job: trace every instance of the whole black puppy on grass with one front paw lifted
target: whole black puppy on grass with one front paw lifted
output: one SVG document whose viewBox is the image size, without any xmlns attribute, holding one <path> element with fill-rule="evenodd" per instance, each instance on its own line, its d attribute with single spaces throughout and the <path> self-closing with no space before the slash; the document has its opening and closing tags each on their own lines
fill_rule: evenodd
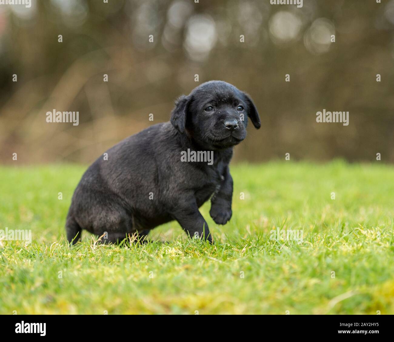
<svg viewBox="0 0 394 342">
<path fill-rule="evenodd" d="M 213 194 L 211 217 L 217 224 L 230 220 L 229 162 L 232 147 L 246 137 L 248 116 L 260 128 L 249 96 L 223 81 L 181 96 L 170 122 L 126 138 L 87 169 L 72 197 L 67 240 L 78 241 L 82 229 L 108 233 L 105 242 L 120 242 L 136 231 L 143 239 L 150 229 L 177 220 L 189 236 L 212 242 L 199 207 Z M 185 162 L 193 151 L 213 155 L 213 161 Z"/>
</svg>

